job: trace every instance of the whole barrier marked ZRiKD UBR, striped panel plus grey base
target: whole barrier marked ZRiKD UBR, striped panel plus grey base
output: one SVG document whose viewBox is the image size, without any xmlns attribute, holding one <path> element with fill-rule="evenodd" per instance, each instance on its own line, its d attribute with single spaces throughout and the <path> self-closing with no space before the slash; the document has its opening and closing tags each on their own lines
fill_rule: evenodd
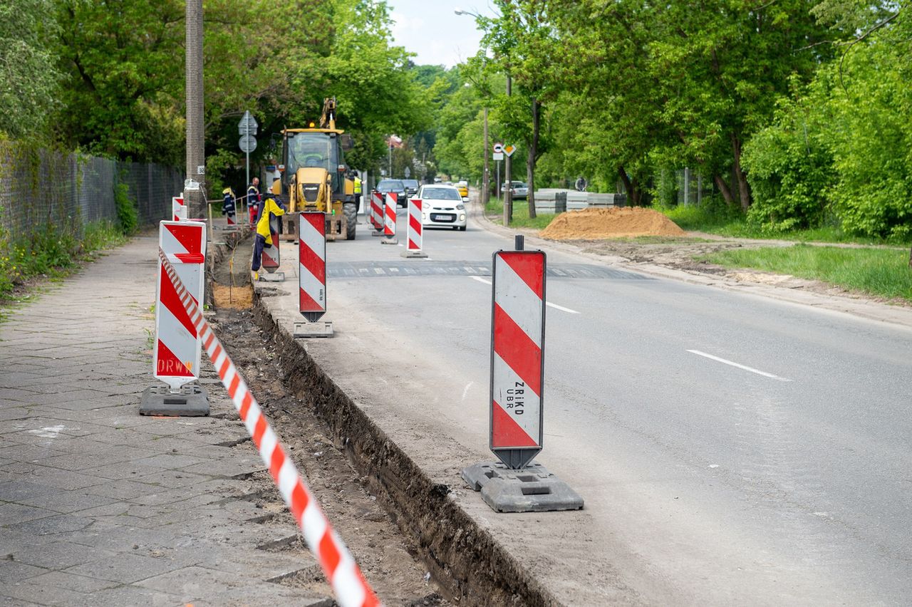
<svg viewBox="0 0 912 607">
<path fill-rule="evenodd" d="M 464 468 L 462 478 L 498 512 L 582 509 L 583 499 L 532 460 L 544 437 L 544 310 L 547 261 L 542 251 L 493 254 L 491 431 L 500 461 Z"/>
</svg>

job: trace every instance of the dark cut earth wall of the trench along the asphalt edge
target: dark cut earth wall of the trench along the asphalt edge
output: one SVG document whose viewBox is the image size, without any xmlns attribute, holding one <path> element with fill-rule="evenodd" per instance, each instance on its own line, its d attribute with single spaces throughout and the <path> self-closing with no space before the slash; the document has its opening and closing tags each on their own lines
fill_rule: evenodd
<svg viewBox="0 0 912 607">
<path fill-rule="evenodd" d="M 431 575 L 461 605 L 559 605 L 489 530 L 454 501 L 352 400 L 288 330 L 271 289 L 254 284 L 254 319 L 287 354 L 280 359 L 296 396 L 312 403 L 356 468 L 414 542 Z M 357 555 L 356 555 L 357 558 Z"/>
</svg>

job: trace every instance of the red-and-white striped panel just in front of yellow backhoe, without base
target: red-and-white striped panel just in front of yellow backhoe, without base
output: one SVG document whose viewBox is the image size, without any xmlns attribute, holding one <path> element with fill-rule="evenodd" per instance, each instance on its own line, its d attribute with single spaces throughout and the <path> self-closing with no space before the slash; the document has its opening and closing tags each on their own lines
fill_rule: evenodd
<svg viewBox="0 0 912 607">
<path fill-rule="evenodd" d="M 326 314 L 326 213 L 303 211 L 297 234 L 301 315 L 316 323 Z"/>
</svg>

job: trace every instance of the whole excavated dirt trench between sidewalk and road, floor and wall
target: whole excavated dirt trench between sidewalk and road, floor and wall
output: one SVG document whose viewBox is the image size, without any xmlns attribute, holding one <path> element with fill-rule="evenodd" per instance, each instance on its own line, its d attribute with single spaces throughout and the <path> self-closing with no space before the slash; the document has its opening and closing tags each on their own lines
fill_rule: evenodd
<svg viewBox="0 0 912 607">
<path fill-rule="evenodd" d="M 275 324 L 256 295 L 252 309 L 244 306 L 244 293 L 252 293 L 248 245 L 237 247 L 233 272 L 231 251 L 224 249 L 212 255 L 215 330 L 381 600 L 557 604 L 453 503 L 450 487 L 428 478 Z M 271 496 L 273 516 L 291 520 L 271 478 L 252 480 Z M 275 550 L 304 552 L 306 546 L 295 539 Z M 318 569 L 277 582 L 328 590 Z"/>
</svg>

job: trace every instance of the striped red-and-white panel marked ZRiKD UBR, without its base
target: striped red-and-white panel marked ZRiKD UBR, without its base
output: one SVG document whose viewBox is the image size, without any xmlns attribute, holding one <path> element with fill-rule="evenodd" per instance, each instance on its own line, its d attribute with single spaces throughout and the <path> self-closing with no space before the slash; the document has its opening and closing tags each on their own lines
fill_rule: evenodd
<svg viewBox="0 0 912 607">
<path fill-rule="evenodd" d="M 544 271 L 544 252 L 494 253 L 490 446 L 511 468 L 542 450 Z"/>
</svg>

